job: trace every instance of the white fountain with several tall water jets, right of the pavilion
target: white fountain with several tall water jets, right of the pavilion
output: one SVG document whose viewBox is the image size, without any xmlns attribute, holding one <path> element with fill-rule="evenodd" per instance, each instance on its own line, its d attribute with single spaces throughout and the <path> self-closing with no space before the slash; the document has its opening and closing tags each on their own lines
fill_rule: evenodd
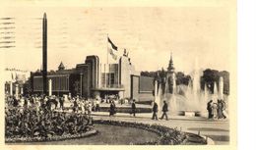
<svg viewBox="0 0 256 150">
<path fill-rule="evenodd" d="M 164 81 L 162 82 L 160 79 L 155 81 L 155 101 L 159 105 L 160 110 L 163 101 L 166 101 L 170 115 L 207 117 L 206 107 L 210 98 L 213 99 L 214 103 L 217 103 L 218 99 L 224 99 L 224 78 L 222 76 L 219 79 L 219 90 L 217 82 L 214 82 L 213 93 L 210 92 L 207 84 L 204 85 L 204 89 L 201 89 L 197 59 L 195 60 L 195 67 L 191 76 L 192 79 L 188 85 L 176 85 L 172 56 L 170 57 Z M 158 78 L 160 78 L 159 74 Z M 164 90 L 162 90 L 162 87 L 164 87 Z"/>
</svg>

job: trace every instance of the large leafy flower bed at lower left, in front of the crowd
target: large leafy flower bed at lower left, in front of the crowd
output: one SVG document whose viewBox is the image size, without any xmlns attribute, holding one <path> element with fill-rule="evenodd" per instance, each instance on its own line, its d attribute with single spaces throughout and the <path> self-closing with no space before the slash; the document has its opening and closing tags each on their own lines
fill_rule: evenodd
<svg viewBox="0 0 256 150">
<path fill-rule="evenodd" d="M 5 110 L 5 142 L 40 142 L 95 135 L 93 118 L 33 108 Z"/>
</svg>

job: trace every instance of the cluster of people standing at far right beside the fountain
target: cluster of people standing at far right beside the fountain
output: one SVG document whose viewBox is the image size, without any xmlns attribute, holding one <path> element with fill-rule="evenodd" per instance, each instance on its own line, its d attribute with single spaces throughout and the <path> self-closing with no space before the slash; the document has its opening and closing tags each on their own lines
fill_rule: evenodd
<svg viewBox="0 0 256 150">
<path fill-rule="evenodd" d="M 224 100 L 218 99 L 217 103 L 213 100 L 210 100 L 207 103 L 207 111 L 208 111 L 208 119 L 225 119 L 226 112 L 225 112 L 225 103 Z"/>
</svg>

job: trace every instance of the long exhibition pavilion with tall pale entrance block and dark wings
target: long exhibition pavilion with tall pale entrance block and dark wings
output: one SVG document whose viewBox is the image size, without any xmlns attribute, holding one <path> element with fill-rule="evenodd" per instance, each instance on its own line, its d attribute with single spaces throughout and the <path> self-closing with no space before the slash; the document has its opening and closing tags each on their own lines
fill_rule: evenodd
<svg viewBox="0 0 256 150">
<path fill-rule="evenodd" d="M 71 70 L 65 69 L 61 62 L 57 71 L 47 73 L 47 80 L 52 80 L 52 93 L 86 98 L 114 95 L 140 101 L 154 100 L 154 77 L 141 76 L 127 56 L 122 56 L 117 64 L 99 62 L 97 56 L 88 56 L 85 63 Z M 33 93 L 42 93 L 41 72 L 31 74 L 31 84 Z"/>
</svg>

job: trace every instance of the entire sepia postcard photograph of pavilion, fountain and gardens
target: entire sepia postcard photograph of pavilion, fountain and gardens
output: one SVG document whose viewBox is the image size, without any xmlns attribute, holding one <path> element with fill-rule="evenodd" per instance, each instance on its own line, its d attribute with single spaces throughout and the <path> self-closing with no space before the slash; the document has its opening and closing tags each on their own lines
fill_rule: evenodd
<svg viewBox="0 0 256 150">
<path fill-rule="evenodd" d="M 4 145 L 230 145 L 226 5 L 4 7 Z"/>
</svg>

